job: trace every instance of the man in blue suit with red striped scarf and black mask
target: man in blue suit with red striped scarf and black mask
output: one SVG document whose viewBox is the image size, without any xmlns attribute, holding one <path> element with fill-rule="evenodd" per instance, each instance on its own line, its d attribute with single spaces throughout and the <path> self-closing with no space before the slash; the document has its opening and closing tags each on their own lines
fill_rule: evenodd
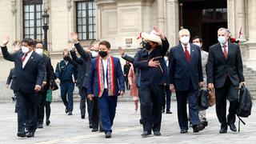
<svg viewBox="0 0 256 144">
<path fill-rule="evenodd" d="M 124 94 L 125 82 L 120 60 L 110 55 L 110 43 L 102 41 L 98 46 L 99 56 L 91 62 L 87 92 L 90 100 L 98 97 L 102 126 L 106 138 L 111 138 L 118 95 Z"/>
</svg>

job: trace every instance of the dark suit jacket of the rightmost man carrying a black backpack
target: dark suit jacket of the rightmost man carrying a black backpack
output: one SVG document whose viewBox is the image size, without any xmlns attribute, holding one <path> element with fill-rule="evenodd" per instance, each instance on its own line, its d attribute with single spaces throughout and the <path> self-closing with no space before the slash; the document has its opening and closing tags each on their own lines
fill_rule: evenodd
<svg viewBox="0 0 256 144">
<path fill-rule="evenodd" d="M 244 82 L 242 74 L 242 57 L 238 45 L 228 43 L 227 60 L 224 58 L 222 46 L 216 43 L 210 46 L 207 62 L 207 83 L 214 83 L 216 88 L 220 88 L 226 82 L 226 77 L 230 77 L 234 86 L 239 82 Z"/>
</svg>

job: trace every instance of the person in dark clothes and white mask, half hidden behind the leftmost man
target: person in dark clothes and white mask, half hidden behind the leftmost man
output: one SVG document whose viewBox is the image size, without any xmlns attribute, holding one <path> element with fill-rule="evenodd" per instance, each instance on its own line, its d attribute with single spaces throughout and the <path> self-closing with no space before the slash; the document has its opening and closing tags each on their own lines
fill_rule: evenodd
<svg viewBox="0 0 256 144">
<path fill-rule="evenodd" d="M 50 58 L 43 54 L 44 46 L 42 42 L 38 42 L 34 48 L 34 51 L 39 55 L 42 55 L 43 62 L 46 66 L 46 77 L 42 82 L 42 89 L 38 92 L 38 128 L 43 128 L 43 119 L 45 116 L 46 107 L 46 126 L 50 124 L 50 102 L 46 102 L 47 91 L 52 86 L 51 82 L 54 82 L 54 70 L 52 68 Z"/>
</svg>

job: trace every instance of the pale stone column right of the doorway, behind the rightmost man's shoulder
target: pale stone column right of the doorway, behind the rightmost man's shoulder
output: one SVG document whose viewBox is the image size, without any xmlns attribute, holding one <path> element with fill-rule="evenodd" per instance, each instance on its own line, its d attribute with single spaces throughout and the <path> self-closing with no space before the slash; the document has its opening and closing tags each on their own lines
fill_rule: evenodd
<svg viewBox="0 0 256 144">
<path fill-rule="evenodd" d="M 246 41 L 246 1 L 235 0 L 235 31 L 232 32 L 234 38 L 238 38 L 239 31 L 242 28 L 242 35 L 240 36 L 240 42 Z"/>
</svg>

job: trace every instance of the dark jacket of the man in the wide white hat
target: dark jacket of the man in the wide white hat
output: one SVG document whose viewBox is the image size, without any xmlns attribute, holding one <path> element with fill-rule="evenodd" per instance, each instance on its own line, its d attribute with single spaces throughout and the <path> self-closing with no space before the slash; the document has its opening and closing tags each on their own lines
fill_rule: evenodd
<svg viewBox="0 0 256 144">
<path fill-rule="evenodd" d="M 138 50 L 134 58 L 134 68 L 140 70 L 140 86 L 159 86 L 167 82 L 166 62 L 164 56 L 169 49 L 169 42 L 162 40 L 162 46 L 158 46 L 150 53 L 148 50 Z M 150 59 L 160 62 L 158 67 L 150 67 Z"/>
</svg>

